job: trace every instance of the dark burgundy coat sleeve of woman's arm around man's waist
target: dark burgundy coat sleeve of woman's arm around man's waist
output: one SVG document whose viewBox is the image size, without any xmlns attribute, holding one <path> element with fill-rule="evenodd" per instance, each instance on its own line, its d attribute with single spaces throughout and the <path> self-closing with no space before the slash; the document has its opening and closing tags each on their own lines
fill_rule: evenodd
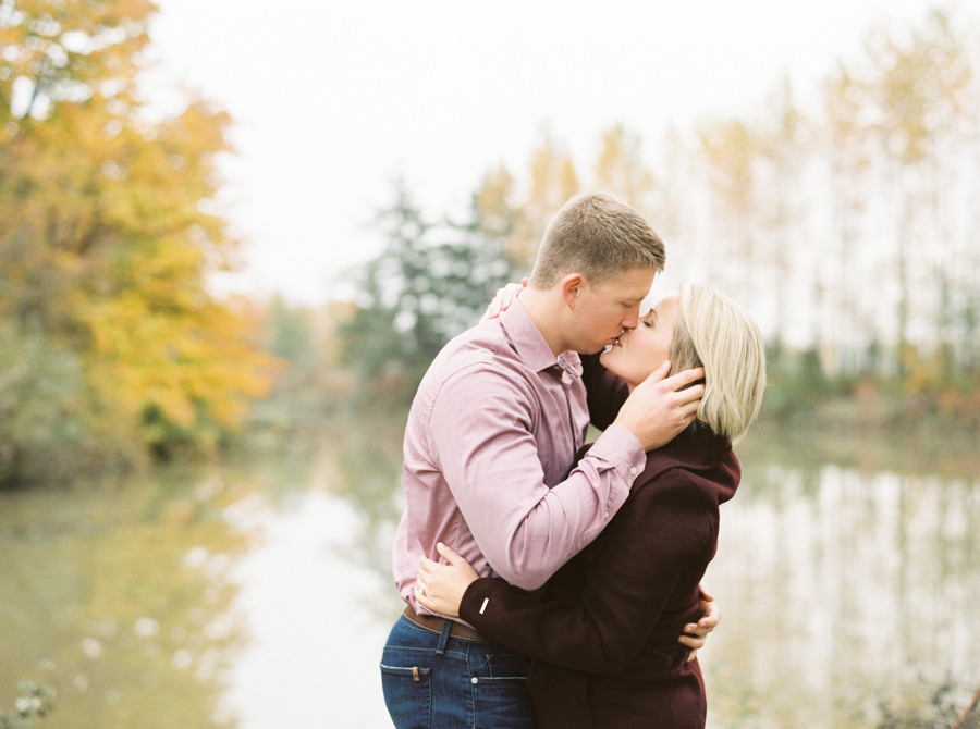
<svg viewBox="0 0 980 729">
<path fill-rule="evenodd" d="M 685 568 L 713 548 L 709 505 L 683 471 L 640 489 L 585 569 L 579 596 L 546 602 L 497 579 L 463 596 L 460 616 L 490 640 L 531 658 L 591 674 L 623 670 L 642 647 Z"/>
</svg>

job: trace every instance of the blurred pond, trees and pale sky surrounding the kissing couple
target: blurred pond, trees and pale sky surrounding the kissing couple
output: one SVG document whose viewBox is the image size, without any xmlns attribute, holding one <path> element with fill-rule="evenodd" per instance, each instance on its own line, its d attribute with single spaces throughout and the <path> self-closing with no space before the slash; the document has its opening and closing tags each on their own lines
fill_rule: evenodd
<svg viewBox="0 0 980 729">
<path fill-rule="evenodd" d="M 0 727 L 389 727 L 429 361 L 602 188 L 767 337 L 713 728 L 980 726 L 980 7 L 0 0 Z"/>
</svg>

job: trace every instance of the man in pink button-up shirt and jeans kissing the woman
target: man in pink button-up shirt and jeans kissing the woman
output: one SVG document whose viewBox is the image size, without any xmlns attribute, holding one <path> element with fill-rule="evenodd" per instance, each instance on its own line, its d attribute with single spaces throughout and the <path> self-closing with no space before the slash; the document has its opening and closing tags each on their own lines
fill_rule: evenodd
<svg viewBox="0 0 980 729">
<path fill-rule="evenodd" d="M 690 423 L 703 386 L 688 385 L 703 372 L 664 380 L 661 368 L 574 464 L 589 422 L 576 353 L 637 325 L 664 258 L 636 210 L 604 193 L 579 195 L 549 224 L 519 299 L 429 368 L 405 431 L 407 503 L 393 549 L 408 607 L 381 662 L 399 729 L 531 726 L 526 659 L 427 614 L 415 598 L 419 558 L 437 559 L 443 542 L 481 576 L 536 590 L 615 515 L 645 452 Z"/>
</svg>

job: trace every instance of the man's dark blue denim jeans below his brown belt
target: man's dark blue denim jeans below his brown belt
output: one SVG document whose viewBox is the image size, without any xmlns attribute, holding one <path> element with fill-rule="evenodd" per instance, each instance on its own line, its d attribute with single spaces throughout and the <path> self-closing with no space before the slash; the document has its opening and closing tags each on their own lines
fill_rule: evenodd
<svg viewBox="0 0 980 729">
<path fill-rule="evenodd" d="M 381 657 L 384 703 L 396 729 L 534 729 L 530 659 L 495 643 L 451 638 L 402 616 Z"/>
</svg>

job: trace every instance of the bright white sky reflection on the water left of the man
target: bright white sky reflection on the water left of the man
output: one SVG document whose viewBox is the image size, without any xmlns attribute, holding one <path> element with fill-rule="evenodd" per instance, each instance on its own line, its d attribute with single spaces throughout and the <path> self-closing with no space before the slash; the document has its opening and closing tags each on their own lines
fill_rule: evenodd
<svg viewBox="0 0 980 729">
<path fill-rule="evenodd" d="M 250 640 L 226 701 L 242 729 L 390 726 L 378 658 L 401 607 L 390 577 L 353 556 L 363 515 L 315 491 L 262 520 L 262 545 L 234 570 Z"/>
</svg>

